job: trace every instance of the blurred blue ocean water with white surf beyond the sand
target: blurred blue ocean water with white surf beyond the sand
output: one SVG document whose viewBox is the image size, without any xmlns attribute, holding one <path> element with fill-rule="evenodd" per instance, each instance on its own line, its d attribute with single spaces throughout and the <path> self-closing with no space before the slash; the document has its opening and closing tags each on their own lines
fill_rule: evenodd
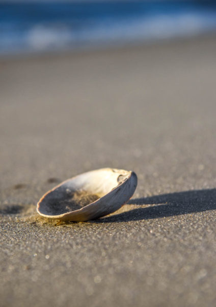
<svg viewBox="0 0 216 307">
<path fill-rule="evenodd" d="M 213 31 L 215 1 L 0 2 L 0 55 L 99 48 Z"/>
</svg>

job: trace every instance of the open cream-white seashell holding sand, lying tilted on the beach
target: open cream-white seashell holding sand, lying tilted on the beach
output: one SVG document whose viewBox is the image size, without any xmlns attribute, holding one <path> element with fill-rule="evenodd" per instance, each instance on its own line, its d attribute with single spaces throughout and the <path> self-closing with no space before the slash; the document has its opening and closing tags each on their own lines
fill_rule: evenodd
<svg viewBox="0 0 216 307">
<path fill-rule="evenodd" d="M 118 210 L 133 195 L 133 171 L 101 168 L 68 179 L 45 193 L 37 212 L 60 221 L 84 222 Z"/>
</svg>

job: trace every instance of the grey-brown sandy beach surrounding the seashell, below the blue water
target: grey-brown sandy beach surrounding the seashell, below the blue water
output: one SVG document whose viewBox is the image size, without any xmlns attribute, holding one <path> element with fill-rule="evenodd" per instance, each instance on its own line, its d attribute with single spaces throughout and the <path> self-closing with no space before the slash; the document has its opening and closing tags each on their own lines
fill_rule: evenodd
<svg viewBox="0 0 216 307">
<path fill-rule="evenodd" d="M 0 306 L 216 304 L 216 39 L 0 59 Z M 133 170 L 120 210 L 40 218 L 76 174 Z"/>
</svg>

